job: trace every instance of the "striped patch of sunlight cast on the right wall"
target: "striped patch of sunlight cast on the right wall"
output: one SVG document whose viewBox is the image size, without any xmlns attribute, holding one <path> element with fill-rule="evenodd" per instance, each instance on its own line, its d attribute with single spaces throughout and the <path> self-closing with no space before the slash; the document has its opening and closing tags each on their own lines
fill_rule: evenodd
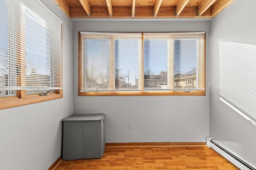
<svg viewBox="0 0 256 170">
<path fill-rule="evenodd" d="M 256 45 L 219 42 L 220 98 L 256 120 Z"/>
</svg>

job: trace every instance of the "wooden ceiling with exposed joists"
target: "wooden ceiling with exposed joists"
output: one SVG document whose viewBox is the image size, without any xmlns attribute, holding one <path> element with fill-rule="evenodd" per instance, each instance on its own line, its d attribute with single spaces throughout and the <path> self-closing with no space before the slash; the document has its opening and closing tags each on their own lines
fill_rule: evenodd
<svg viewBox="0 0 256 170">
<path fill-rule="evenodd" d="M 214 18 L 235 0 L 54 0 L 69 18 Z"/>
</svg>

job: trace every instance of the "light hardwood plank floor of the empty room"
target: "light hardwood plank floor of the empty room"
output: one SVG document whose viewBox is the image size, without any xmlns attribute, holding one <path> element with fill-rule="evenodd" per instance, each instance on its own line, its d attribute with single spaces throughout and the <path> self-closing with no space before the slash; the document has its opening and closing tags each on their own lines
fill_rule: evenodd
<svg viewBox="0 0 256 170">
<path fill-rule="evenodd" d="M 202 143 L 114 145 L 101 159 L 62 160 L 55 170 L 239 170 Z"/>
</svg>

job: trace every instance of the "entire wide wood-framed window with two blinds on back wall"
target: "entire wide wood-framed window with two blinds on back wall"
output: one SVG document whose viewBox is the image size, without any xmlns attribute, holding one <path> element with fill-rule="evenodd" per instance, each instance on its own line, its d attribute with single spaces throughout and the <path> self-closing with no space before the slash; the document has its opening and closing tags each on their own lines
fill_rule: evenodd
<svg viewBox="0 0 256 170">
<path fill-rule="evenodd" d="M 205 33 L 79 33 L 80 96 L 205 95 Z"/>
</svg>

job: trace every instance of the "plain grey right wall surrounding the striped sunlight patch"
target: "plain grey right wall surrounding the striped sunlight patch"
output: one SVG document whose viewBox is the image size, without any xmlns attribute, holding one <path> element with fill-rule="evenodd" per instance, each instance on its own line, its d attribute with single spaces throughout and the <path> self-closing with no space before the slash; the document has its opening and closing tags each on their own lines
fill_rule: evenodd
<svg viewBox="0 0 256 170">
<path fill-rule="evenodd" d="M 219 41 L 256 45 L 255 0 L 236 0 L 210 26 L 210 136 L 256 166 L 256 126 L 220 101 Z"/>
</svg>

